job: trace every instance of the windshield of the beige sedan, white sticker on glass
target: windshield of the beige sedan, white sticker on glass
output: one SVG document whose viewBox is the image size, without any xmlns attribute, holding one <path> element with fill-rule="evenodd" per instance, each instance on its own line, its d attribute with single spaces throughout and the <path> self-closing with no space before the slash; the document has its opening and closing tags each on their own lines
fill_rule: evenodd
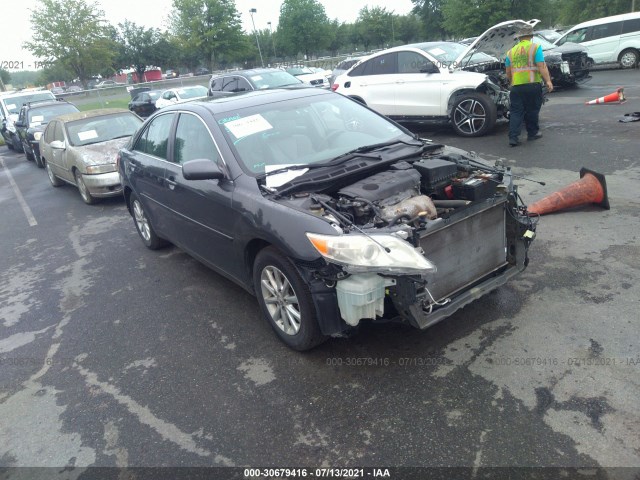
<svg viewBox="0 0 640 480">
<path fill-rule="evenodd" d="M 83 118 L 65 125 L 71 145 L 80 147 L 130 137 L 142 124 L 137 115 L 129 112 Z"/>
</svg>

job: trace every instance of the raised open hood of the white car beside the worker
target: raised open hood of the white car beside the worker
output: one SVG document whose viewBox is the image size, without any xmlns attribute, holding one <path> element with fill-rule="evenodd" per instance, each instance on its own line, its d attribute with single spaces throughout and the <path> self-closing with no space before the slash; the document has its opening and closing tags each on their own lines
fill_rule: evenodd
<svg viewBox="0 0 640 480">
<path fill-rule="evenodd" d="M 487 55 L 491 55 L 497 59 L 504 58 L 505 54 L 511 47 L 515 45 L 514 36 L 525 25 L 531 25 L 535 27 L 540 20 L 507 20 L 506 22 L 498 23 L 482 35 L 477 37 L 462 54 L 456 58 L 455 65 L 458 68 L 464 69 L 472 60 L 472 56 L 478 52 L 482 52 Z"/>
</svg>

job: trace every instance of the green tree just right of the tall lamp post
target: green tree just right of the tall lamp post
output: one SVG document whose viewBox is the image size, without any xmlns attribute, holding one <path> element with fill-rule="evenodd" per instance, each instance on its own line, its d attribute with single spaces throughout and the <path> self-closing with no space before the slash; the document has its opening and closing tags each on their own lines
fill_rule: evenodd
<svg viewBox="0 0 640 480">
<path fill-rule="evenodd" d="M 325 50 L 330 43 L 329 18 L 317 0 L 284 0 L 278 19 L 278 45 L 285 53 L 307 58 Z"/>
</svg>

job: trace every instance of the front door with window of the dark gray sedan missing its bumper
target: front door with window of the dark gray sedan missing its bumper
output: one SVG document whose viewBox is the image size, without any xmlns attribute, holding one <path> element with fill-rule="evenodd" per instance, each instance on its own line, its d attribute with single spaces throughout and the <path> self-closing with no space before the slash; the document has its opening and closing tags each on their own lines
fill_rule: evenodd
<svg viewBox="0 0 640 480">
<path fill-rule="evenodd" d="M 189 160 L 206 159 L 226 167 L 220 151 L 204 121 L 193 113 L 178 118 L 173 155 L 167 164 L 165 184 L 173 220 L 172 238 L 191 254 L 232 277 L 241 275 L 241 259 L 234 257 L 231 211 L 233 182 L 186 180 L 182 165 Z"/>
</svg>

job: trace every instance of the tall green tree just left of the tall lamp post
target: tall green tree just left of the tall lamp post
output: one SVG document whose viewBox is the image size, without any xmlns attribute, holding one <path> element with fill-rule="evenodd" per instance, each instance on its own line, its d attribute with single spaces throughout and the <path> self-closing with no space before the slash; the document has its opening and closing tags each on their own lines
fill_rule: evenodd
<svg viewBox="0 0 640 480">
<path fill-rule="evenodd" d="M 173 0 L 169 23 L 181 45 L 211 69 L 249 48 L 234 0 Z"/>
</svg>

